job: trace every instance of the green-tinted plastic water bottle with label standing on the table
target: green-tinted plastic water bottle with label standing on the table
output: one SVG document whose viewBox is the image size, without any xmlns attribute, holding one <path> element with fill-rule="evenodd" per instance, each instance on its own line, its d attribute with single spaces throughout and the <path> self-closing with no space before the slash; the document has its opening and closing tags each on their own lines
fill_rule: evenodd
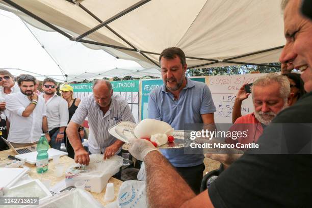
<svg viewBox="0 0 312 208">
<path fill-rule="evenodd" d="M 45 138 L 45 134 L 41 134 L 41 137 L 37 143 L 37 173 L 45 172 L 49 167 L 49 155 L 47 153 L 48 149 L 49 143 Z"/>
</svg>

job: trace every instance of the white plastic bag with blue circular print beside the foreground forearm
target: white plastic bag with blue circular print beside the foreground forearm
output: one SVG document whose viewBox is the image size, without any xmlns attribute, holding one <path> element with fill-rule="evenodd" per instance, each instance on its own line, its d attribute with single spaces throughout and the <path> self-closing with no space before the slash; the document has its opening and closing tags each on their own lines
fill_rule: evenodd
<svg viewBox="0 0 312 208">
<path fill-rule="evenodd" d="M 118 205 L 120 208 L 148 207 L 145 181 L 124 181 L 119 188 Z"/>
</svg>

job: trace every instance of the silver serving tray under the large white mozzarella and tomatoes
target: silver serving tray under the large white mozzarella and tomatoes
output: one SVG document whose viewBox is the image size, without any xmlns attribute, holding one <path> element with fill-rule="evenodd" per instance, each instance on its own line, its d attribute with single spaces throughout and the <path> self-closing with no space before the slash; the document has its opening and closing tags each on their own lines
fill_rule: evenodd
<svg viewBox="0 0 312 208">
<path fill-rule="evenodd" d="M 136 123 L 130 121 L 120 121 L 119 123 L 113 125 L 109 128 L 109 133 L 115 138 L 129 144 L 129 139 L 136 138 L 134 134 L 134 129 L 137 126 Z M 183 148 L 184 145 L 184 131 L 173 131 L 174 142 L 167 143 L 158 146 L 158 149 L 171 149 L 171 148 Z"/>
</svg>

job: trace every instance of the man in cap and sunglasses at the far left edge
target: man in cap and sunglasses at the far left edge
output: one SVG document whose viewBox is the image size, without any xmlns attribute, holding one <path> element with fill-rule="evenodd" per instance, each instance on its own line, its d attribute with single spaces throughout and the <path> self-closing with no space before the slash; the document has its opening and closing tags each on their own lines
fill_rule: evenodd
<svg viewBox="0 0 312 208">
<path fill-rule="evenodd" d="M 10 93 L 19 92 L 17 83 L 14 82 L 14 76 L 7 70 L 0 70 L 0 110 L 6 109 L 5 97 Z"/>
</svg>

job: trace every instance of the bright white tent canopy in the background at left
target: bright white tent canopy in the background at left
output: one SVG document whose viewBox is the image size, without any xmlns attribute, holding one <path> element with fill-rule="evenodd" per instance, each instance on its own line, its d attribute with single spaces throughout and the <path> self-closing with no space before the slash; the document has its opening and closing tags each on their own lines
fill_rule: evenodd
<svg viewBox="0 0 312 208">
<path fill-rule="evenodd" d="M 0 25 L 4 29 L 0 39 L 0 68 L 13 75 L 30 73 L 38 80 L 43 80 L 45 75 L 61 82 L 126 75 L 160 76 L 155 68 L 145 69 L 134 61 L 116 59 L 101 49 L 93 50 L 69 41 L 57 32 L 39 30 L 3 10 L 0 10 Z"/>
</svg>

